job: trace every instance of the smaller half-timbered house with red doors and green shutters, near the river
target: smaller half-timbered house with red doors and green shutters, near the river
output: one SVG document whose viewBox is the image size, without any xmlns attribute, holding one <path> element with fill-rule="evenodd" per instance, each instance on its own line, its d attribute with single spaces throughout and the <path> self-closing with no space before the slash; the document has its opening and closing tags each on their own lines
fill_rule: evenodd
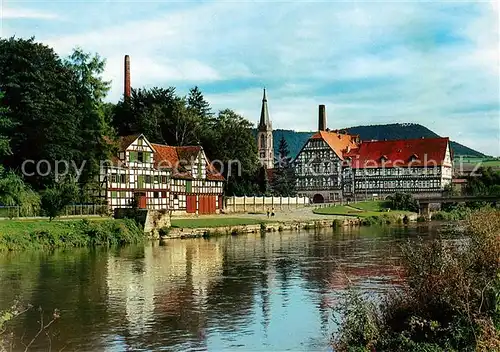
<svg viewBox="0 0 500 352">
<path fill-rule="evenodd" d="M 201 146 L 150 143 L 142 134 L 120 137 L 118 154 L 101 167 L 101 196 L 110 208 L 169 210 L 173 214 L 222 209 L 224 178 Z"/>
</svg>

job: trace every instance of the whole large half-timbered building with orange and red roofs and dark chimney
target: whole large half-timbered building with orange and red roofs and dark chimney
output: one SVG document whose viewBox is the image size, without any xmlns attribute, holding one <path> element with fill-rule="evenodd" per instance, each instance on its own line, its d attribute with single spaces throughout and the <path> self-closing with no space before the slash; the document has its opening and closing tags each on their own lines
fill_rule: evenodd
<svg viewBox="0 0 500 352">
<path fill-rule="evenodd" d="M 330 131 L 320 105 L 318 132 L 294 160 L 297 192 L 315 203 L 395 192 L 438 195 L 451 183 L 452 160 L 448 138 L 361 141 Z"/>
</svg>

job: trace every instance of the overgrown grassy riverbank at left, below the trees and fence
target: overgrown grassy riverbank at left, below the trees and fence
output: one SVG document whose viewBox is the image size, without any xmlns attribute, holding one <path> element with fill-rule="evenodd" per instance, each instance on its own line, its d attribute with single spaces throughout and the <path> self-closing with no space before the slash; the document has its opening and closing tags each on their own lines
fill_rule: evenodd
<svg viewBox="0 0 500 352">
<path fill-rule="evenodd" d="M 0 251 L 113 246 L 143 239 L 143 230 L 128 219 L 0 221 Z"/>
</svg>

